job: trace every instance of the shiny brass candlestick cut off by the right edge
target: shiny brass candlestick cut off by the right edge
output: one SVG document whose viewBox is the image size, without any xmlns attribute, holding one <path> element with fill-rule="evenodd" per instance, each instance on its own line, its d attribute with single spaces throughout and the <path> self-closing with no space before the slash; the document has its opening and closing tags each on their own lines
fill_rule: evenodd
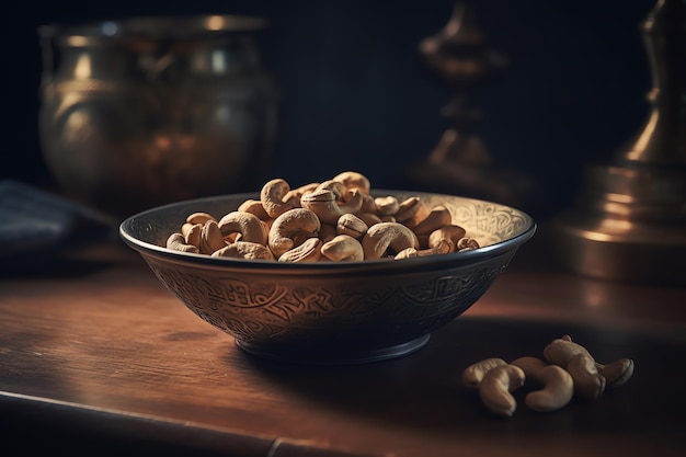
<svg viewBox="0 0 686 457">
<path fill-rule="evenodd" d="M 652 110 L 607 165 L 591 165 L 575 207 L 553 224 L 560 262 L 606 279 L 686 284 L 686 32 L 682 0 L 642 23 Z"/>
</svg>

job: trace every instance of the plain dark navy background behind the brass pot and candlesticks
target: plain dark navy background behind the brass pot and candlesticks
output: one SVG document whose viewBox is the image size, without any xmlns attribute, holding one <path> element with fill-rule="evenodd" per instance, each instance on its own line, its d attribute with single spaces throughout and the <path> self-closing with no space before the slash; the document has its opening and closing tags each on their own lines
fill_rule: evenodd
<svg viewBox="0 0 686 457">
<path fill-rule="evenodd" d="M 569 206 L 584 163 L 609 160 L 648 115 L 650 73 L 639 24 L 653 0 L 471 0 L 492 47 L 512 60 L 476 102 L 494 159 L 531 176 L 546 208 Z M 419 42 L 449 20 L 453 0 L 9 2 L 3 7 L 0 179 L 50 181 L 39 151 L 36 27 L 130 15 L 261 15 L 263 60 L 279 83 L 279 134 L 270 175 L 299 185 L 356 169 L 375 187 L 433 149 L 449 89 Z M 401 182 L 400 182 L 401 183 Z M 526 206 L 526 205 L 525 205 Z"/>
</svg>

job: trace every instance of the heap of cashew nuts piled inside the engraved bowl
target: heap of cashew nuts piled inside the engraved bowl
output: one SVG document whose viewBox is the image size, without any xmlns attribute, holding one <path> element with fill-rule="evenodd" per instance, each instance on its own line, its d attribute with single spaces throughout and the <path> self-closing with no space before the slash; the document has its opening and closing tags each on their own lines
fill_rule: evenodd
<svg viewBox="0 0 686 457">
<path fill-rule="evenodd" d="M 278 262 L 401 260 L 479 248 L 445 206 L 369 192 L 369 180 L 355 171 L 293 190 L 276 178 L 263 185 L 260 199 L 235 212 L 188 215 L 167 248 Z"/>
</svg>

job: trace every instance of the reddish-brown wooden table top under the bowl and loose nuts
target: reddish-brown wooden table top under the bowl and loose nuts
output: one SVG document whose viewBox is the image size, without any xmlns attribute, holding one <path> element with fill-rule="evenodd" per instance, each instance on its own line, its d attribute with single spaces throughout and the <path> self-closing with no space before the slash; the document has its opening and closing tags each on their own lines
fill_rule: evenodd
<svg viewBox="0 0 686 457">
<path fill-rule="evenodd" d="M 122 244 L 3 273 L 0 454 L 685 455 L 686 288 L 567 274 L 547 242 L 541 228 L 418 353 L 339 367 L 243 353 Z M 633 377 L 552 413 L 517 390 L 508 419 L 461 386 L 469 364 L 563 334 L 598 362 L 633 358 Z"/>
</svg>

